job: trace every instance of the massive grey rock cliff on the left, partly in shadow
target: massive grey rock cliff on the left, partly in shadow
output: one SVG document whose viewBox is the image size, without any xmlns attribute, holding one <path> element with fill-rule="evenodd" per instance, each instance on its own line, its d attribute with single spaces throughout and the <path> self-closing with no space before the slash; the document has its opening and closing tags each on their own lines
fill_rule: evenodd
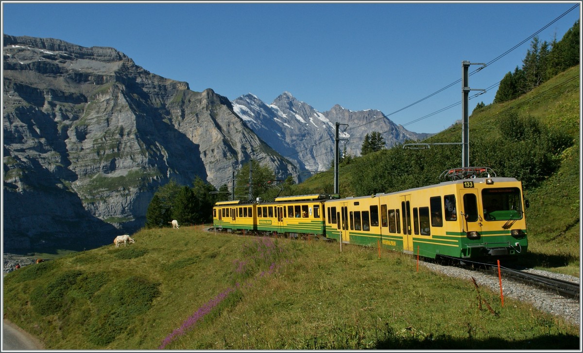
<svg viewBox="0 0 583 353">
<path fill-rule="evenodd" d="M 113 48 L 3 39 L 5 252 L 111 243 L 143 226 L 157 186 L 199 176 L 218 187 L 233 163 L 297 179 L 213 90 L 191 91 Z"/>
</svg>

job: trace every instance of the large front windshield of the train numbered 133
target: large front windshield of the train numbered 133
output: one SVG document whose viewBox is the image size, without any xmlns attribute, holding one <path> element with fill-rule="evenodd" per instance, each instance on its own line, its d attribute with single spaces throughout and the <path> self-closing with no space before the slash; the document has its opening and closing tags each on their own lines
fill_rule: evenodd
<svg viewBox="0 0 583 353">
<path fill-rule="evenodd" d="M 482 190 L 482 208 L 486 220 L 522 219 L 522 202 L 517 187 Z"/>
</svg>

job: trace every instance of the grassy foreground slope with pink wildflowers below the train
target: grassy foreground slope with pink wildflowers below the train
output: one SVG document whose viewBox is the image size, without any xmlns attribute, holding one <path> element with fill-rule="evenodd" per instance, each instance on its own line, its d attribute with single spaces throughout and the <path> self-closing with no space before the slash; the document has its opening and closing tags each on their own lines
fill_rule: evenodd
<svg viewBox="0 0 583 353">
<path fill-rule="evenodd" d="M 579 330 L 415 258 L 323 240 L 142 230 L 11 272 L 6 319 L 50 350 L 576 350 Z"/>
</svg>

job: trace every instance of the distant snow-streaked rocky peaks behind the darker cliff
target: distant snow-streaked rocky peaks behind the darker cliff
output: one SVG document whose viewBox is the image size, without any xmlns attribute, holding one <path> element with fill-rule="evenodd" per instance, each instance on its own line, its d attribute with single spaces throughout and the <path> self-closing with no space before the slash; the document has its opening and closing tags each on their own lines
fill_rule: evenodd
<svg viewBox="0 0 583 353">
<path fill-rule="evenodd" d="M 300 102 L 290 92 L 283 92 L 272 104 L 266 105 L 253 94 L 243 95 L 233 101 L 234 111 L 259 137 L 280 154 L 291 159 L 300 170 L 323 171 L 329 169 L 334 159 L 336 122 L 340 126 L 339 149 L 359 156 L 366 134 L 380 132 L 385 147 L 390 148 L 405 140 L 423 140 L 431 136 L 414 133 L 395 124 L 380 110 L 354 112 L 335 105 L 320 113 L 305 102 Z"/>
</svg>

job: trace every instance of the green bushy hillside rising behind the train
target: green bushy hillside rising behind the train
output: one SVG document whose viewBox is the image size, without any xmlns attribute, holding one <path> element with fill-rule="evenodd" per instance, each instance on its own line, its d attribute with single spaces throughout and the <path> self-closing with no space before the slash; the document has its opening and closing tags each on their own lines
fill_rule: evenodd
<svg viewBox="0 0 583 353">
<path fill-rule="evenodd" d="M 471 105 L 470 101 L 470 105 Z M 461 113 L 460 113 L 461 115 Z M 579 276 L 580 267 L 580 66 L 571 67 L 513 101 L 487 105 L 469 119 L 470 165 L 523 182 L 529 236 L 528 265 Z M 460 142 L 461 124 L 423 141 Z M 385 149 L 340 166 L 340 195 L 392 192 L 439 183 L 461 166 L 461 147 Z M 286 190 L 333 190 L 333 172 Z"/>
</svg>

